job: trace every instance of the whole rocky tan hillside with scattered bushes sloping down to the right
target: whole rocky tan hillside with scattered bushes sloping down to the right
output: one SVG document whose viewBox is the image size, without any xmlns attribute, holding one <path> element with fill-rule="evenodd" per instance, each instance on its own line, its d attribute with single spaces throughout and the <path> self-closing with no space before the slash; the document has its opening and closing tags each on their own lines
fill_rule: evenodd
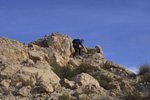
<svg viewBox="0 0 150 100">
<path fill-rule="evenodd" d="M 72 57 L 72 39 L 52 33 L 28 45 L 0 37 L 0 100 L 150 100 L 150 84 L 108 61 L 100 46 Z"/>
</svg>

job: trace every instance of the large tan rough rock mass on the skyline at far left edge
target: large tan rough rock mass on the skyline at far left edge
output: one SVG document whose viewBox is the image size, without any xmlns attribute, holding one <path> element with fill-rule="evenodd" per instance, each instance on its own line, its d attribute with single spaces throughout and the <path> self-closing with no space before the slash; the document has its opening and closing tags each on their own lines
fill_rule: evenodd
<svg viewBox="0 0 150 100">
<path fill-rule="evenodd" d="M 28 58 L 28 50 L 16 40 L 0 37 L 0 56 L 5 56 L 11 63 L 21 63 Z"/>
</svg>

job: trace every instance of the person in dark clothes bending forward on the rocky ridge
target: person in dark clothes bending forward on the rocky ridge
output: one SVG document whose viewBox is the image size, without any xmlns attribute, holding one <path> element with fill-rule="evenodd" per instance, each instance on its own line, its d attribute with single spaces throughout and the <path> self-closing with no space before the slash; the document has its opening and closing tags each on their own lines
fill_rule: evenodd
<svg viewBox="0 0 150 100">
<path fill-rule="evenodd" d="M 84 42 L 84 40 L 80 40 L 80 39 L 74 39 L 72 41 L 73 48 L 75 49 L 75 53 L 73 54 L 73 57 L 76 55 L 78 50 L 79 50 L 79 55 L 81 56 L 81 48 L 80 48 L 80 46 L 84 47 L 83 46 L 83 42 Z"/>
</svg>

